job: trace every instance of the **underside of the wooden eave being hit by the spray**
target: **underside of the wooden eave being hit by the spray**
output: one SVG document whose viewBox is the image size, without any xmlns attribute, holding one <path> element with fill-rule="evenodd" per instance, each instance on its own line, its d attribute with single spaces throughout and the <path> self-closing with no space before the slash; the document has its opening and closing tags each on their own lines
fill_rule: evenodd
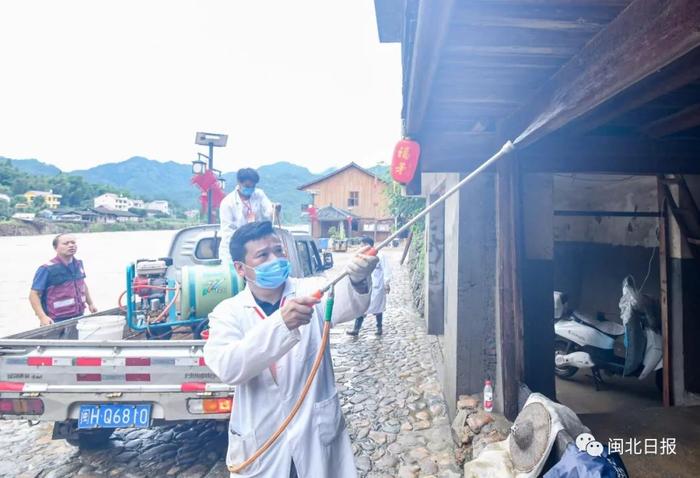
<svg viewBox="0 0 700 478">
<path fill-rule="evenodd" d="M 415 34 L 404 39 L 403 116 L 421 143 L 422 171 L 468 171 L 528 128 L 522 151 L 553 133 L 551 145 L 588 135 L 601 136 L 600 147 L 616 143 L 606 136 L 646 145 L 695 138 L 700 2 L 421 0 L 416 8 Z M 633 150 L 622 156 L 658 164 Z"/>
</svg>

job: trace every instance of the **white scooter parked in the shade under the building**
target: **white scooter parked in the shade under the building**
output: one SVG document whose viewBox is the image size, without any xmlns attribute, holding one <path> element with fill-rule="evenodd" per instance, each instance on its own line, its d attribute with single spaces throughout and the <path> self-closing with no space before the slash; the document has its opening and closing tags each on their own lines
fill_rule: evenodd
<svg viewBox="0 0 700 478">
<path fill-rule="evenodd" d="M 642 296 L 628 276 L 622 283 L 622 323 L 589 317 L 568 308 L 567 297 L 554 292 L 554 373 L 570 378 L 580 369 L 590 369 L 596 390 L 604 384 L 601 370 L 610 375 L 645 379 L 656 371 L 661 383 L 663 351 L 658 314 L 654 302 Z M 624 357 L 615 354 L 615 343 L 624 344 Z"/>
</svg>

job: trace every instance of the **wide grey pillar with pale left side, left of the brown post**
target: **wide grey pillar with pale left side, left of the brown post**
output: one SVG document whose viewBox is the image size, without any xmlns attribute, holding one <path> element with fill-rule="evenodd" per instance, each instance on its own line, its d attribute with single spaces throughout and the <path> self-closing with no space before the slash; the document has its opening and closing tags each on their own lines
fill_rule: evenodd
<svg viewBox="0 0 700 478">
<path fill-rule="evenodd" d="M 495 175 L 484 173 L 445 202 L 444 390 L 454 416 L 461 394 L 494 379 L 496 346 Z M 454 180 L 454 181 L 452 181 Z M 446 181 L 449 188 L 459 178 Z"/>
</svg>

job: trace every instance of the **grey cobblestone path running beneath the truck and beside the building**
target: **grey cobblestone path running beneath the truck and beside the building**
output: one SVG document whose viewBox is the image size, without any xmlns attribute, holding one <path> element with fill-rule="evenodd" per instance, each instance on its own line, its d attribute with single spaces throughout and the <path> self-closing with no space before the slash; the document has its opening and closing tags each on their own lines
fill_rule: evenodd
<svg viewBox="0 0 700 478">
<path fill-rule="evenodd" d="M 459 477 L 445 402 L 425 327 L 410 305 L 407 274 L 394 266 L 384 335 L 374 318 L 360 336 L 331 334 L 336 381 L 360 477 Z M 51 440 L 52 425 L 0 422 L 0 476 L 23 478 L 223 478 L 225 427 L 183 423 L 117 430 L 101 450 Z"/>
</svg>

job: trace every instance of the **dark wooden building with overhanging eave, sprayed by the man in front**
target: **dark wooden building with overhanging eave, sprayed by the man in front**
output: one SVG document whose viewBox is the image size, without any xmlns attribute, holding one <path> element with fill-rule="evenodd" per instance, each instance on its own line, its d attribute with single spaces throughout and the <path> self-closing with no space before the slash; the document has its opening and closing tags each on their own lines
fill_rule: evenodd
<svg viewBox="0 0 700 478">
<path fill-rule="evenodd" d="M 700 404 L 700 2 L 375 5 L 380 40 L 402 46 L 404 133 L 421 145 L 408 193 L 435 200 L 515 145 L 427 221 L 425 317 L 451 411 L 488 376 L 509 417 L 523 386 L 557 397 L 561 271 L 584 254 L 597 266 L 578 277 L 580 290 L 608 302 L 620 294 L 590 292 L 613 269 L 585 255 L 593 249 L 619 261 L 620 275 L 640 270 L 640 282 L 650 265 L 663 404 Z M 580 185 L 583 173 L 619 183 L 574 192 L 566 180 Z"/>
</svg>

